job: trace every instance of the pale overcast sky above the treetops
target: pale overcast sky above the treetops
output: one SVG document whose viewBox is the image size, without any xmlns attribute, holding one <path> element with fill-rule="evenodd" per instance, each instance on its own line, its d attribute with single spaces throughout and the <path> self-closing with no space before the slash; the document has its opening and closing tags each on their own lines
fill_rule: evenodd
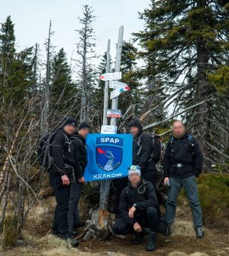
<svg viewBox="0 0 229 256">
<path fill-rule="evenodd" d="M 106 50 L 108 38 L 111 38 L 111 56 L 115 56 L 115 43 L 118 39 L 118 28 L 124 25 L 124 40 L 131 38 L 131 33 L 144 28 L 144 21 L 138 17 L 150 0 L 0 0 L 1 22 L 11 15 L 15 23 L 15 34 L 18 50 L 30 47 L 35 43 L 44 49 L 49 21 L 52 20 L 52 41 L 58 50 L 64 48 L 70 58 L 76 49 L 79 23 L 82 16 L 82 5 L 90 5 L 97 16 L 94 28 L 97 39 L 96 53 L 102 55 Z"/>
</svg>

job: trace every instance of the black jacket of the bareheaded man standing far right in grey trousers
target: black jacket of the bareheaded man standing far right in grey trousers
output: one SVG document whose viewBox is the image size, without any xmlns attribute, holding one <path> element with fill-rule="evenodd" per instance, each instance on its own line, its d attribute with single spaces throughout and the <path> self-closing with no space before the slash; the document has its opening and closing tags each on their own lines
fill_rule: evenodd
<svg viewBox="0 0 229 256">
<path fill-rule="evenodd" d="M 203 156 L 196 139 L 189 141 L 189 135 L 185 134 L 180 139 L 173 137 L 167 143 L 166 153 L 163 161 L 165 177 L 186 178 L 189 176 L 198 177 L 202 172 Z M 178 167 L 177 164 L 182 164 Z"/>
</svg>

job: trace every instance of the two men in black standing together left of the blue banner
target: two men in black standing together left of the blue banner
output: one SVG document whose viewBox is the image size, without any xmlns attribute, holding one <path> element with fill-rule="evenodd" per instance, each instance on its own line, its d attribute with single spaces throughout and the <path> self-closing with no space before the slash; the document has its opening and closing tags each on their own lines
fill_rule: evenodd
<svg viewBox="0 0 229 256">
<path fill-rule="evenodd" d="M 68 118 L 63 127 L 53 134 L 49 169 L 50 185 L 56 197 L 53 234 L 72 240 L 75 246 L 78 245 L 78 241 L 73 239 L 76 228 L 84 225 L 79 220 L 78 203 L 87 165 L 85 139 L 90 133 L 88 123 L 81 123 L 77 132 L 76 127 L 76 120 Z"/>
</svg>

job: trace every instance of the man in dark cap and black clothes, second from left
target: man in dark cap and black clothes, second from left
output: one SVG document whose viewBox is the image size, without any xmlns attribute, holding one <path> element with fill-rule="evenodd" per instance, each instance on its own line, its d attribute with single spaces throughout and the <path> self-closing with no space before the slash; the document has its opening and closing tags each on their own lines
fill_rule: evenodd
<svg viewBox="0 0 229 256">
<path fill-rule="evenodd" d="M 76 235 L 76 228 L 85 225 L 84 222 L 80 222 L 78 204 L 82 192 L 82 185 L 85 183 L 85 179 L 83 178 L 85 166 L 88 164 L 85 139 L 89 133 L 89 124 L 83 122 L 79 125 L 78 133 L 71 138 L 71 142 L 73 143 L 75 167 L 69 200 L 68 223 L 69 231 L 73 235 Z"/>
</svg>

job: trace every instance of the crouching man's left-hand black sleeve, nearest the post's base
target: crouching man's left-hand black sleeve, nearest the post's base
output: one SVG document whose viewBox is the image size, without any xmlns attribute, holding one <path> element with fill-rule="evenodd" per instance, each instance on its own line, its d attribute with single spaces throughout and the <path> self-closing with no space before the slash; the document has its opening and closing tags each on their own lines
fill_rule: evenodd
<svg viewBox="0 0 229 256">
<path fill-rule="evenodd" d="M 124 222 L 134 225 L 137 222 L 134 218 L 129 217 L 129 203 L 127 200 L 126 189 L 123 189 L 120 197 L 119 212 Z"/>
</svg>

